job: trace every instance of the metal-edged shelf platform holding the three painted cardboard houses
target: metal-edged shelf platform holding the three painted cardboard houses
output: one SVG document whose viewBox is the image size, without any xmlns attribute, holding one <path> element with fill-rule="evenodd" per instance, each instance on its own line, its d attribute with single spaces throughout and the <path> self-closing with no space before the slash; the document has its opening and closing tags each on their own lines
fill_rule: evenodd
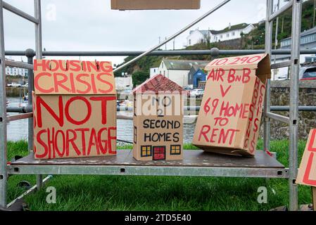
<svg viewBox="0 0 316 225">
<path fill-rule="evenodd" d="M 289 169 L 258 150 L 254 158 L 184 150 L 184 160 L 137 161 L 131 150 L 115 156 L 34 160 L 31 153 L 12 162 L 8 174 L 107 174 L 151 176 L 234 176 L 288 178 Z"/>
</svg>

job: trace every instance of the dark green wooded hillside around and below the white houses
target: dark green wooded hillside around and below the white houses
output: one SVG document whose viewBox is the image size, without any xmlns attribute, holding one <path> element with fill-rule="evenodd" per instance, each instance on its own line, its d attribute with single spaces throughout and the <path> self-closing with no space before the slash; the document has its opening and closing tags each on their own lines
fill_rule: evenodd
<svg viewBox="0 0 316 225">
<path fill-rule="evenodd" d="M 309 30 L 313 26 L 313 8 L 314 0 L 308 0 L 303 2 L 302 8 L 302 31 Z M 286 37 L 291 37 L 291 10 L 284 12 L 279 17 L 279 29 L 278 29 L 278 40 L 284 39 Z M 273 38 L 275 35 L 274 30 Z M 216 47 L 218 49 L 264 49 L 265 46 L 265 23 L 255 24 L 255 30 L 249 34 L 245 34 L 239 41 L 222 41 L 217 43 L 202 43 L 196 44 L 194 46 L 188 46 L 186 50 L 206 50 Z M 161 60 L 164 56 L 145 56 L 137 63 L 132 63 L 126 68 L 119 72 L 115 72 L 115 76 L 120 76 L 122 72 L 127 72 L 132 74 L 134 86 L 141 84 L 149 77 L 149 69 L 155 68 L 160 65 Z M 128 56 L 125 58 L 124 63 L 132 60 L 134 56 Z M 193 60 L 211 60 L 210 56 L 172 56 L 168 58 L 178 58 L 178 59 L 193 59 Z M 123 63 L 122 63 L 123 64 Z M 121 64 L 121 65 L 122 65 Z"/>
</svg>

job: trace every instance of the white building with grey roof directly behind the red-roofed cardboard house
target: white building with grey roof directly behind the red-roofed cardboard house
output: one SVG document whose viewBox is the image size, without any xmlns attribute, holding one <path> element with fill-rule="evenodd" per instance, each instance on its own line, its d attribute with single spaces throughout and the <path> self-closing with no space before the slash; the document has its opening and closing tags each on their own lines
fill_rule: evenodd
<svg viewBox="0 0 316 225">
<path fill-rule="evenodd" d="M 168 77 L 179 86 L 188 86 L 188 75 L 193 65 L 205 67 L 209 61 L 203 60 L 169 60 L 163 59 L 158 74 Z"/>
</svg>

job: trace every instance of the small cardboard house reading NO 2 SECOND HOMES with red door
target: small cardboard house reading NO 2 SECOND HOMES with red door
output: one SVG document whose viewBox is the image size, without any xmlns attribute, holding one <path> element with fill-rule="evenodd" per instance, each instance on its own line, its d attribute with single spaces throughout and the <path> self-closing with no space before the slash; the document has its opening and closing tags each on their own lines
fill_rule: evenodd
<svg viewBox="0 0 316 225">
<path fill-rule="evenodd" d="M 183 101 L 181 86 L 156 75 L 133 90 L 136 160 L 182 160 Z"/>
</svg>

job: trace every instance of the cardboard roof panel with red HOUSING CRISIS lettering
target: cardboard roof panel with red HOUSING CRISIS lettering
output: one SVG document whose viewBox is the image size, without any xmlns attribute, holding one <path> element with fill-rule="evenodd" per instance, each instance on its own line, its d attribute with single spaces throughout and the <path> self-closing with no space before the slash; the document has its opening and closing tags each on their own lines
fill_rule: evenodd
<svg viewBox="0 0 316 225">
<path fill-rule="evenodd" d="M 35 94 L 116 94 L 108 61 L 34 60 Z"/>
</svg>

